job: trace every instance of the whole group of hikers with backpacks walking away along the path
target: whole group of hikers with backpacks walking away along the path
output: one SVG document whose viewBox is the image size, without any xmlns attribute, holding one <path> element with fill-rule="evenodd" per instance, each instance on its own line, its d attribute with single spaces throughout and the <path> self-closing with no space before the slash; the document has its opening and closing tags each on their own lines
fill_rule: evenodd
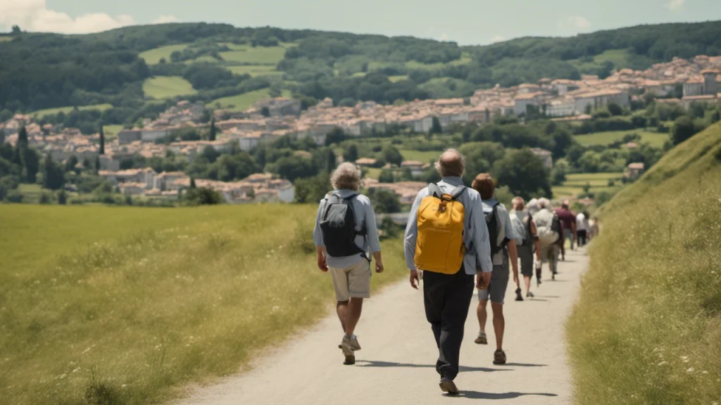
<svg viewBox="0 0 721 405">
<path fill-rule="evenodd" d="M 435 169 L 441 181 L 418 192 L 405 230 L 404 253 L 412 288 L 418 289 L 423 280 L 425 316 L 438 346 L 435 369 L 441 375 L 441 390 L 454 395 L 459 392 L 454 379 L 473 290 L 478 291 L 480 326 L 475 342 L 488 344 L 490 301 L 496 342 L 493 363 L 503 365 L 503 304 L 511 275 L 516 301 L 523 301 L 519 261 L 526 298 L 533 298 L 534 270 L 537 286 L 542 263 L 549 264 L 555 279 L 559 256 L 565 260 L 565 240 L 570 239 L 570 249 L 575 249 L 575 241 L 583 246 L 598 233 L 598 226 L 595 218 L 589 221 L 588 213 L 573 215 L 567 201 L 553 210 L 546 198 L 526 203 L 515 197 L 509 212 L 495 199 L 490 174 L 479 174 L 471 187 L 464 186 L 465 159 L 454 149 L 441 155 Z M 361 171 L 354 164 L 340 164 L 331 183 L 334 190 L 320 202 L 313 236 L 318 267 L 330 273 L 335 288 L 344 332 L 338 347 L 344 363 L 352 365 L 355 352 L 361 350 L 354 332 L 363 298 L 370 297 L 371 263 L 375 260 L 376 272 L 383 272 L 384 266 L 371 201 L 358 193 Z"/>
</svg>

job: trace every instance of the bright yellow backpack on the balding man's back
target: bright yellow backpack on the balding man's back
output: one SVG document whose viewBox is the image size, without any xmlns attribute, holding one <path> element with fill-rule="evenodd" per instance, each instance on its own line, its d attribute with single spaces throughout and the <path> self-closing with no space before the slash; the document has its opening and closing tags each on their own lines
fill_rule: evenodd
<svg viewBox="0 0 721 405">
<path fill-rule="evenodd" d="M 430 195 L 418 207 L 418 237 L 415 266 L 418 270 L 453 275 L 461 270 L 466 246 L 463 244 L 465 208 L 457 200 L 466 187 L 443 194 L 437 184 L 429 184 Z"/>
</svg>

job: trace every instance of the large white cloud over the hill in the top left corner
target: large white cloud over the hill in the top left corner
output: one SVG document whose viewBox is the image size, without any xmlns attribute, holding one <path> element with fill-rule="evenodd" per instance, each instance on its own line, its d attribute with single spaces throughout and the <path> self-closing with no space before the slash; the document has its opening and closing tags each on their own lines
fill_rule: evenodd
<svg viewBox="0 0 721 405">
<path fill-rule="evenodd" d="M 0 0 L 0 25 L 19 25 L 24 31 L 86 34 L 133 23 L 133 17 L 126 14 L 112 17 L 105 13 L 89 13 L 73 18 L 48 9 L 45 0 Z"/>
</svg>

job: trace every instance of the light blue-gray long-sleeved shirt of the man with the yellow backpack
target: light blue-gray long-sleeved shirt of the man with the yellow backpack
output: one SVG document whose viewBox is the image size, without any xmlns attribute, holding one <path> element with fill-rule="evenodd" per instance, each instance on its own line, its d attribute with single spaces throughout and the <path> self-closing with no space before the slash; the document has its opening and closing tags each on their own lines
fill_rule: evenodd
<svg viewBox="0 0 721 405">
<path fill-rule="evenodd" d="M 461 177 L 443 177 L 438 187 L 442 192 L 451 193 L 454 188 L 463 185 Z M 410 270 L 416 270 L 415 267 L 415 243 L 418 238 L 418 206 L 420 200 L 428 197 L 428 187 L 418 192 L 415 202 L 408 216 L 408 225 L 405 232 L 405 257 L 406 265 Z M 466 188 L 458 199 L 464 206 L 464 234 L 463 243 L 466 246 L 466 254 L 463 258 L 466 273 L 474 275 L 477 268 L 482 272 L 492 272 L 491 264 L 491 246 L 488 243 L 488 228 L 486 227 L 485 216 L 481 208 L 481 196 L 476 190 Z"/>
</svg>

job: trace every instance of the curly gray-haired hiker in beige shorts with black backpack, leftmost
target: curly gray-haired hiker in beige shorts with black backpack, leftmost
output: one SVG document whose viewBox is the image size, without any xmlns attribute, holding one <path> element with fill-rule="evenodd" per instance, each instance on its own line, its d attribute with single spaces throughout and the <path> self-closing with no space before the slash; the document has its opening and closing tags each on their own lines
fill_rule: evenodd
<svg viewBox="0 0 721 405">
<path fill-rule="evenodd" d="M 363 298 L 371 296 L 371 257 L 376 259 L 376 272 L 383 272 L 381 243 L 376 228 L 376 215 L 371 200 L 358 193 L 361 171 L 351 163 L 343 163 L 330 177 L 334 188 L 318 207 L 313 240 L 318 254 L 318 268 L 329 272 L 335 288 L 336 311 L 343 337 L 340 349 L 344 364 L 355 364 L 361 350 L 355 337 L 355 325 L 361 319 Z"/>
</svg>

